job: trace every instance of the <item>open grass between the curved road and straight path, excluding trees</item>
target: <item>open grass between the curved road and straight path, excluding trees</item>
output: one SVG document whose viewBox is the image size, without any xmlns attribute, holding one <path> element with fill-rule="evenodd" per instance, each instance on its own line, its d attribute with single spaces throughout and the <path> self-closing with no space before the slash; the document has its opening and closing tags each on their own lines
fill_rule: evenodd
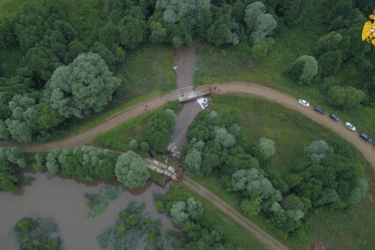
<svg viewBox="0 0 375 250">
<path fill-rule="evenodd" d="M 242 138 L 254 141 L 266 137 L 275 142 L 276 154 L 269 163 L 282 174 L 288 171 L 303 148 L 314 140 L 348 143 L 326 127 L 269 100 L 226 94 L 214 97 L 210 103 L 210 108 L 219 115 L 225 109 L 233 107 L 239 108 L 242 114 Z M 312 216 L 311 236 L 323 238 L 335 249 L 375 249 L 375 175 L 371 165 L 358 151 L 357 158 L 357 165 L 369 182 L 367 196 L 360 204 L 345 210 L 321 210 Z M 240 211 L 239 197 L 233 193 L 226 193 L 216 184 L 214 178 L 199 178 L 188 174 Z M 270 231 L 264 225 L 262 216 L 255 217 L 253 221 Z M 284 243 L 292 249 L 307 249 L 308 246 L 308 242 Z"/>
</svg>

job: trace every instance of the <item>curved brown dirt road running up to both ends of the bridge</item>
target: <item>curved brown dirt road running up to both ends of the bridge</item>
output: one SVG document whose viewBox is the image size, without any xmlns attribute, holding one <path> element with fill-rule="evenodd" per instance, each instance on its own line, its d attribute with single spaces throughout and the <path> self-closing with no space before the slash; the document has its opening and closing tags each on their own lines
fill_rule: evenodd
<svg viewBox="0 0 375 250">
<path fill-rule="evenodd" d="M 214 84 L 213 84 L 214 85 Z M 213 86 L 212 85 L 212 86 Z M 220 88 L 220 92 L 218 89 Z M 375 150 L 363 139 L 359 137 L 359 132 L 353 132 L 346 127 L 344 127 L 344 122 L 336 122 L 329 118 L 329 115 L 321 115 L 314 111 L 314 107 L 311 105 L 309 107 L 302 106 L 298 103 L 298 100 L 294 97 L 288 96 L 287 94 L 281 93 L 272 88 L 264 87 L 257 84 L 247 84 L 243 82 L 230 82 L 228 84 L 217 85 L 217 90 L 215 94 L 223 93 L 241 93 L 241 94 L 250 94 L 254 96 L 264 97 L 269 100 L 273 100 L 277 103 L 287 106 L 288 108 L 299 111 L 300 113 L 306 115 L 312 120 L 323 124 L 326 127 L 329 127 L 353 145 L 355 145 L 359 151 L 366 157 L 366 159 L 375 167 Z M 147 110 L 155 109 L 168 101 L 177 100 L 177 93 L 172 92 L 162 96 L 156 96 L 151 99 L 148 99 L 144 102 L 137 103 L 133 106 L 130 106 L 126 109 L 123 109 L 110 117 L 103 120 L 101 123 L 96 124 L 93 127 L 90 127 L 86 130 L 81 131 L 80 133 L 68 137 L 62 141 L 39 144 L 39 143 L 30 143 L 30 144 L 21 144 L 17 142 L 0 142 L 0 147 L 9 147 L 9 146 L 18 146 L 23 151 L 27 152 L 48 152 L 54 148 L 62 147 L 79 147 L 87 144 L 92 141 L 97 135 L 109 130 L 114 127 L 124 123 L 125 121 L 137 117 L 142 113 L 146 112 L 144 110 L 145 105 L 147 104 Z M 293 129 L 293 128 L 291 128 Z M 306 131 L 307 132 L 307 131 Z"/>
</svg>

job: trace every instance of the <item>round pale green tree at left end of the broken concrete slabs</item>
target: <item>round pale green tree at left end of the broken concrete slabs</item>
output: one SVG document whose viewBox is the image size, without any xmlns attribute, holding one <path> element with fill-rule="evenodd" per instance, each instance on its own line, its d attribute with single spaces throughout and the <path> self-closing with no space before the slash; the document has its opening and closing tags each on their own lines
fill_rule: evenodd
<svg viewBox="0 0 375 250">
<path fill-rule="evenodd" d="M 129 188 L 144 186 L 150 177 L 146 163 L 133 151 L 127 151 L 118 157 L 115 175 L 118 181 Z"/>
</svg>

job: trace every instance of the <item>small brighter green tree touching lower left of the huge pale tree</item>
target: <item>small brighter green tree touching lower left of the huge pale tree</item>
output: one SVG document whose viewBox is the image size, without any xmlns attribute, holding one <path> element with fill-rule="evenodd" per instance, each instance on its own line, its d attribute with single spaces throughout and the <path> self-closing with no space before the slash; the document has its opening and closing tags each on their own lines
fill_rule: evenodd
<svg viewBox="0 0 375 250">
<path fill-rule="evenodd" d="M 38 125 L 41 129 L 49 129 L 50 127 L 57 126 L 63 121 L 57 111 L 52 109 L 50 105 L 45 102 L 35 105 L 38 111 Z"/>
</svg>

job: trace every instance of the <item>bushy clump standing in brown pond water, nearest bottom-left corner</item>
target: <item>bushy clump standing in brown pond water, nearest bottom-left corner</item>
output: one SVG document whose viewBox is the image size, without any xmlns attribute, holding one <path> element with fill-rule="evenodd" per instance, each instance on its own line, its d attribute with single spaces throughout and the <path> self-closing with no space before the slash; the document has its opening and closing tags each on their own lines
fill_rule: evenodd
<svg viewBox="0 0 375 250">
<path fill-rule="evenodd" d="M 24 217 L 14 226 L 19 234 L 21 249 L 23 250 L 58 250 L 60 238 L 50 237 L 57 232 L 57 225 L 51 218 Z"/>
</svg>

